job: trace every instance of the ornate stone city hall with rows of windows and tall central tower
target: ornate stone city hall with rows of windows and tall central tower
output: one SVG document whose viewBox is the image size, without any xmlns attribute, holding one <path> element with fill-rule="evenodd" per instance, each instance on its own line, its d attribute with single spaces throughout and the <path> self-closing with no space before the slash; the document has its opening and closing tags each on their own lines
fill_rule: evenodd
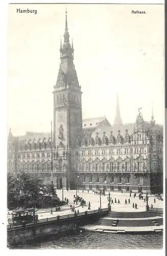
<svg viewBox="0 0 167 256">
<path fill-rule="evenodd" d="M 54 86 L 53 135 L 8 136 L 8 173 L 39 174 L 64 189 L 162 191 L 163 126 L 146 122 L 140 109 L 134 123 L 122 123 L 118 95 L 114 124 L 106 117 L 82 119 L 82 91 L 69 42 L 67 14 L 60 68 Z"/>
</svg>

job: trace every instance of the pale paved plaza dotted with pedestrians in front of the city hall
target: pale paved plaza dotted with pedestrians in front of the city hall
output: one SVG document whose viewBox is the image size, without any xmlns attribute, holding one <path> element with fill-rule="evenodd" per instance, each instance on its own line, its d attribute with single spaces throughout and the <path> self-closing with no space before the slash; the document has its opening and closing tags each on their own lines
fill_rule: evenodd
<svg viewBox="0 0 167 256">
<path fill-rule="evenodd" d="M 52 217 L 56 217 L 56 216 L 62 216 L 62 215 L 67 215 L 67 214 L 73 214 L 73 212 L 70 210 L 70 204 L 74 205 L 74 195 L 76 195 L 76 190 L 64 190 L 63 191 L 64 194 L 64 198 L 68 198 L 69 202 L 68 205 L 63 205 L 61 206 L 61 211 L 55 211 L 55 207 L 53 208 L 53 214 L 51 214 L 51 208 L 47 208 L 47 209 L 39 209 L 37 211 L 38 214 L 38 219 L 45 219 L 45 218 L 52 218 Z M 62 200 L 62 190 L 57 190 L 57 195 L 60 198 L 60 200 Z M 79 190 L 79 192 L 77 192 L 77 195 L 79 197 L 82 197 L 85 201 L 86 201 L 86 205 L 84 205 L 84 207 L 82 208 L 82 206 L 80 206 L 80 202 L 78 202 L 78 205 L 74 205 L 76 208 L 76 210 L 79 209 L 79 212 L 84 212 L 86 210 L 88 210 L 88 203 L 90 202 L 90 210 L 95 210 L 98 209 L 100 207 L 100 195 L 94 195 L 93 191 L 88 191 L 84 190 L 84 192 L 82 192 L 82 190 Z M 130 198 L 130 194 L 129 193 L 118 193 L 118 192 L 110 192 L 110 197 L 113 199 L 116 198 L 116 201 L 118 201 L 118 199 L 120 200 L 120 204 L 118 203 L 114 203 L 111 205 L 111 210 L 114 211 L 145 211 L 146 210 L 146 203 L 144 202 L 144 200 L 139 200 L 138 198 L 138 194 L 136 195 L 136 197 L 133 197 L 133 193 L 132 193 L 132 197 Z M 143 195 L 144 198 L 146 197 L 146 195 Z M 106 192 L 106 195 L 103 196 L 101 195 L 101 206 L 102 208 L 106 208 L 108 206 L 108 192 Z M 130 204 L 126 204 L 125 205 L 125 199 L 130 198 Z M 132 204 L 137 204 L 137 209 L 134 209 L 132 207 Z M 154 203 L 154 196 L 150 196 L 149 195 L 149 202 L 148 202 L 149 206 L 151 207 L 151 204 L 153 204 L 153 207 L 157 207 L 157 208 L 163 208 L 163 201 L 159 201 L 158 199 L 156 199 L 156 203 Z M 88 210 L 89 211 L 89 210 Z M 10 211 L 11 214 L 12 211 Z M 9 216 L 8 216 L 9 218 Z"/>
</svg>

